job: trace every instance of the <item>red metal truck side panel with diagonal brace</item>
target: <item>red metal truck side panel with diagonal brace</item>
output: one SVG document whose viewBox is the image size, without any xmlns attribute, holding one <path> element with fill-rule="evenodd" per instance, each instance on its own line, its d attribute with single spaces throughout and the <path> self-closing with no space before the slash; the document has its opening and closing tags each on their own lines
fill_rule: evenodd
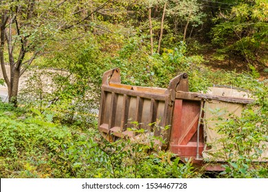
<svg viewBox="0 0 268 192">
<path fill-rule="evenodd" d="M 201 111 L 200 101 L 175 100 L 169 146 L 171 152 L 178 156 L 197 156 L 197 128 Z M 198 153 L 201 155 L 203 151 L 203 134 L 199 134 L 199 142 Z"/>
</svg>

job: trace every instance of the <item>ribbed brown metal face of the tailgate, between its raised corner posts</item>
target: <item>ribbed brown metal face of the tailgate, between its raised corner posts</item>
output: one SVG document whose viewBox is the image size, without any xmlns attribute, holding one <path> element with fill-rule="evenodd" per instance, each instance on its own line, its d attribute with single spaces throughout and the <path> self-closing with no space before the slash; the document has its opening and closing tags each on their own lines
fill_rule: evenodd
<svg viewBox="0 0 268 192">
<path fill-rule="evenodd" d="M 102 86 L 101 98 L 98 125 L 100 132 L 116 139 L 137 136 L 135 130 L 144 129 L 146 132 L 154 132 L 155 136 L 163 135 L 163 139 L 167 140 L 169 130 L 163 134 L 160 127 L 170 125 L 166 116 L 168 94 L 148 94 Z"/>
</svg>

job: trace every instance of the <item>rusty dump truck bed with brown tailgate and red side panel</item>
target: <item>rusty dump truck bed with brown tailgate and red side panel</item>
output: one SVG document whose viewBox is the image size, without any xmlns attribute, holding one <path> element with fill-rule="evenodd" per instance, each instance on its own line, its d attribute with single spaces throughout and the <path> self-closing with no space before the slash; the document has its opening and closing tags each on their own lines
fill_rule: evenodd
<svg viewBox="0 0 268 192">
<path fill-rule="evenodd" d="M 168 88 L 125 85 L 121 84 L 120 70 L 112 69 L 102 78 L 98 129 L 109 140 L 138 138 L 139 132 L 135 130 L 153 132 L 165 141 L 157 143 L 162 149 L 200 163 L 207 150 L 205 141 L 210 129 L 204 123 L 203 109 L 211 103 L 219 104 L 235 108 L 239 116 L 243 106 L 254 101 L 241 93 L 236 94 L 239 97 L 230 97 L 228 91 L 223 88 L 215 94 L 189 92 L 186 73 L 170 80 Z"/>
</svg>

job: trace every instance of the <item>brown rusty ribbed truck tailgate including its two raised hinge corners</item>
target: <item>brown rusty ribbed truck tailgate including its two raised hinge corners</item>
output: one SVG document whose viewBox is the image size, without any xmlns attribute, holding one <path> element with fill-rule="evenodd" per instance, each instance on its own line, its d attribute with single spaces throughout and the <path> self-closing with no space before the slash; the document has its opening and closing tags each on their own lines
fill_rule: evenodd
<svg viewBox="0 0 268 192">
<path fill-rule="evenodd" d="M 185 73 L 171 80 L 168 88 L 164 89 L 124 85 L 120 83 L 119 69 L 107 71 L 102 78 L 98 129 L 109 139 L 137 136 L 137 132 L 127 128 L 144 129 L 161 136 L 168 143 L 170 129 L 163 132 L 160 127 L 171 125 L 178 86 L 188 91 Z M 156 126 L 153 128 L 151 123 Z"/>
</svg>

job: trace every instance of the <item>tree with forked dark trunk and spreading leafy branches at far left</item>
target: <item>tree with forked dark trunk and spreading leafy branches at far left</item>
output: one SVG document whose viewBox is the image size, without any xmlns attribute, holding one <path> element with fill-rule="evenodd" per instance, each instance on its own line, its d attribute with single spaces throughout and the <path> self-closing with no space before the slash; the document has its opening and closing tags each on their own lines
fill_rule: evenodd
<svg viewBox="0 0 268 192">
<path fill-rule="evenodd" d="M 104 8 L 110 0 L 92 9 L 88 1 L 3 0 L 0 1 L 0 62 L 8 101 L 17 104 L 19 78 L 34 59 L 47 50 L 47 40 L 70 28 L 90 27 L 93 12 Z M 91 11 L 93 10 L 93 11 Z M 10 76 L 5 69 L 10 65 Z"/>
</svg>

